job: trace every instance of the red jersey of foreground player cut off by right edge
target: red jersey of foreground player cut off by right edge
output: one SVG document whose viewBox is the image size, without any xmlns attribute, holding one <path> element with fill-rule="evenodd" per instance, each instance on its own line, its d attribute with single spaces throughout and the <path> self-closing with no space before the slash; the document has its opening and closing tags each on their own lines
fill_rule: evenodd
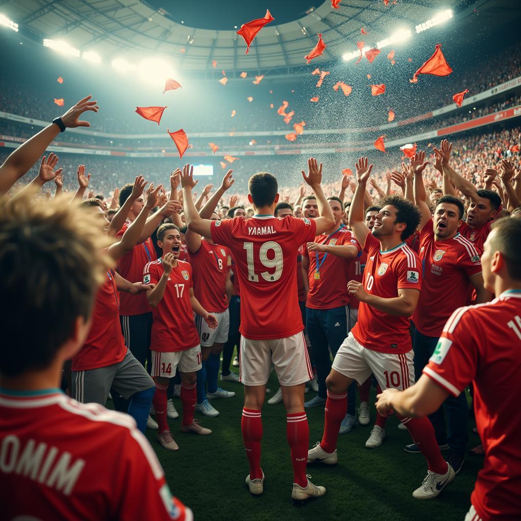
<svg viewBox="0 0 521 521">
<path fill-rule="evenodd" d="M 483 521 L 521 519 L 521 290 L 457 309 L 423 373 L 453 396 L 474 382 L 485 464 L 472 504 Z"/>
</svg>

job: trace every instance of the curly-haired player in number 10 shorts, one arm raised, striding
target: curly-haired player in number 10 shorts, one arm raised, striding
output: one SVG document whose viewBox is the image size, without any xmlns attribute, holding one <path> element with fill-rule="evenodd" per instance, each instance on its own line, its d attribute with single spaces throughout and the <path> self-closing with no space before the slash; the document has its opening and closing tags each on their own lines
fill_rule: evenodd
<svg viewBox="0 0 521 521">
<path fill-rule="evenodd" d="M 327 377 L 324 436 L 309 451 L 310 463 L 337 463 L 338 432 L 345 414 L 346 391 L 353 380 L 363 383 L 373 373 L 382 389 L 405 389 L 414 382 L 409 317 L 420 294 L 421 263 L 404 241 L 416 230 L 420 213 L 398 195 L 384 197 L 369 232 L 364 222 L 364 193 L 372 168 L 366 157 L 358 159 L 358 185 L 349 211 L 349 226 L 367 252 L 363 284 L 354 280 L 348 283 L 350 294 L 360 301 L 358 321 L 340 346 Z M 454 470 L 443 461 L 428 418 L 399 419 L 429 468 L 413 497 L 435 498 L 454 479 Z"/>
</svg>

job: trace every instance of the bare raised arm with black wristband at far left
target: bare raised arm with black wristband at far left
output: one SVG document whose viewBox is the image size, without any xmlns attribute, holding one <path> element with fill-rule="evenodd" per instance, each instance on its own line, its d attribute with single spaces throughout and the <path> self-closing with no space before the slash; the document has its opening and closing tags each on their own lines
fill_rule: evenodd
<svg viewBox="0 0 521 521">
<path fill-rule="evenodd" d="M 89 95 L 83 98 L 61 116 L 61 122 L 66 128 L 90 127 L 88 121 L 80 121 L 78 118 L 86 110 L 97 112 L 100 108 L 96 105 L 97 102 L 89 101 L 91 97 Z M 5 194 L 18 179 L 31 169 L 59 133 L 60 128 L 57 123 L 51 123 L 9 155 L 4 164 L 0 166 L 0 195 Z"/>
</svg>

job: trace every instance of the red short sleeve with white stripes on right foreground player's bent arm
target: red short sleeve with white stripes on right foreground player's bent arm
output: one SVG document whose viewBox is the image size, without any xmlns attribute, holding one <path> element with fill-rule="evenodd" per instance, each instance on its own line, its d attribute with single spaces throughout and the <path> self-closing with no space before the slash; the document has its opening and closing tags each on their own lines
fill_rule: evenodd
<svg viewBox="0 0 521 521">
<path fill-rule="evenodd" d="M 474 338 L 479 328 L 469 308 L 459 308 L 445 324 L 436 349 L 423 373 L 440 387 L 458 396 L 476 376 L 478 348 Z"/>
</svg>

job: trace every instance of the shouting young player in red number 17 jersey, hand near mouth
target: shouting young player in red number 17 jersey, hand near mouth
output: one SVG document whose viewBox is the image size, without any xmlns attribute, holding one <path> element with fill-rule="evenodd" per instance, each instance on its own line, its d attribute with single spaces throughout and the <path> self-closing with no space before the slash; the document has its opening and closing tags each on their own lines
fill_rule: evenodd
<svg viewBox="0 0 521 521">
<path fill-rule="evenodd" d="M 159 427 L 157 440 L 165 449 L 177 451 L 167 423 L 167 394 L 169 379 L 181 376 L 183 418 L 181 432 L 199 435 L 211 434 L 194 419 L 197 402 L 197 371 L 201 369 L 201 345 L 193 313 L 203 319 L 209 328 L 217 327 L 215 315 L 208 313 L 193 292 L 192 267 L 179 261 L 181 234 L 176 225 L 165 223 L 157 230 L 157 244 L 163 256 L 148 263 L 143 269 L 143 283 L 155 284 L 147 293 L 153 308 L 152 322 L 152 376 L 156 386 L 154 410 Z"/>
</svg>

